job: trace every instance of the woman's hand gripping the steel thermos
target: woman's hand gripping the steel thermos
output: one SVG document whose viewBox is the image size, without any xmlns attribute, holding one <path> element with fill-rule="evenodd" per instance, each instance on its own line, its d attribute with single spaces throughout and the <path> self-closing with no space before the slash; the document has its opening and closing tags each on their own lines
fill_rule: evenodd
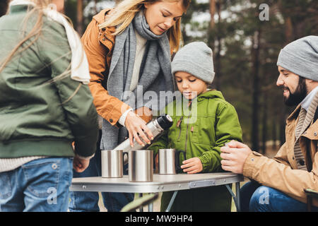
<svg viewBox="0 0 318 226">
<path fill-rule="evenodd" d="M 151 140 L 153 140 L 153 133 L 151 133 L 150 129 L 146 126 L 146 122 L 141 119 L 137 114 L 134 112 L 128 112 L 125 121 L 126 129 L 129 132 L 129 141 L 131 147 L 134 147 L 134 139 L 140 145 L 144 146 L 145 141 L 148 144 L 151 144 Z M 141 138 L 143 141 L 141 141 Z"/>
</svg>

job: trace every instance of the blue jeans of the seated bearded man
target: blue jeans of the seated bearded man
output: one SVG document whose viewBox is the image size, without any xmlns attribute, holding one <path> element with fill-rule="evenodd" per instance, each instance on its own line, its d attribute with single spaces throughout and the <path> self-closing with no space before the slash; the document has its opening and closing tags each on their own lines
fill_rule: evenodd
<svg viewBox="0 0 318 226">
<path fill-rule="evenodd" d="M 305 212 L 307 204 L 281 191 L 257 182 L 247 182 L 240 189 L 241 209 L 250 212 Z M 312 207 L 312 211 L 318 211 Z"/>
</svg>

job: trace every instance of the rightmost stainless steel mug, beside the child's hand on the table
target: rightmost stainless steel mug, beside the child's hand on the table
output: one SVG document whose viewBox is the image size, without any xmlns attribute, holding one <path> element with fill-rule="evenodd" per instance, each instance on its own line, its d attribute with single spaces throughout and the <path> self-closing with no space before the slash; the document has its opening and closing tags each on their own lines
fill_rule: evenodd
<svg viewBox="0 0 318 226">
<path fill-rule="evenodd" d="M 177 174 L 179 167 L 179 155 L 183 154 L 184 160 L 186 153 L 184 150 L 159 149 L 159 174 Z"/>
</svg>

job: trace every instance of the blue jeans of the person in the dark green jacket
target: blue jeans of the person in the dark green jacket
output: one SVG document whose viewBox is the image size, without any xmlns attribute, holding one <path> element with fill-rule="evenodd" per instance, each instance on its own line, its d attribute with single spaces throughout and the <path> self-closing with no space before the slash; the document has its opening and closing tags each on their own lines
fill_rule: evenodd
<svg viewBox="0 0 318 226">
<path fill-rule="evenodd" d="M 0 172 L 0 211 L 66 212 L 73 158 L 46 157 Z"/>
</svg>

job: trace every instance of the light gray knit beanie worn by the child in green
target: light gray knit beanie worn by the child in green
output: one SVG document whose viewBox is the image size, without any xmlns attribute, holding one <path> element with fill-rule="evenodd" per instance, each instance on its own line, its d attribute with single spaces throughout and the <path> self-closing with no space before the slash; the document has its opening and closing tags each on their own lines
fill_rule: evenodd
<svg viewBox="0 0 318 226">
<path fill-rule="evenodd" d="M 212 49 L 204 42 L 191 42 L 180 49 L 172 60 L 172 74 L 184 71 L 211 84 L 214 78 Z"/>
</svg>

